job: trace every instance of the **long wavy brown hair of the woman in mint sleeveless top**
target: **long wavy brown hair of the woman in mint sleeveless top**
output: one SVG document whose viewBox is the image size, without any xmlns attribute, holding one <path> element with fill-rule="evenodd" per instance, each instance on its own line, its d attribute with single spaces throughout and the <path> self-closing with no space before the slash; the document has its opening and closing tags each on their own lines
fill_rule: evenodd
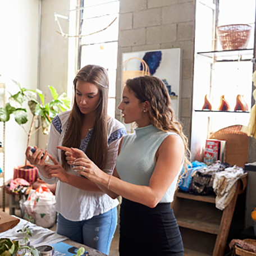
<svg viewBox="0 0 256 256">
<path fill-rule="evenodd" d="M 148 115 L 153 126 L 164 132 L 173 131 L 181 136 L 185 147 L 184 168 L 186 175 L 188 165 L 191 165 L 188 149 L 188 138 L 182 132 L 182 126 L 175 118 L 175 113 L 171 108 L 171 99 L 167 92 L 166 85 L 161 79 L 155 76 L 139 76 L 126 81 L 126 86 L 131 90 L 141 103 L 150 103 Z"/>
</svg>

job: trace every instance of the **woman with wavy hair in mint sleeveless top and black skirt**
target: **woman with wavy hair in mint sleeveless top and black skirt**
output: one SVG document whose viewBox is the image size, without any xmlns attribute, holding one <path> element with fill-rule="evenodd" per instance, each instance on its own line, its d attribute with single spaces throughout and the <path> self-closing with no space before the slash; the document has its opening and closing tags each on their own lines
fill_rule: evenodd
<svg viewBox="0 0 256 256">
<path fill-rule="evenodd" d="M 187 167 L 187 138 L 175 120 L 164 83 L 153 76 L 126 81 L 119 109 L 124 122 L 136 122 L 133 134 L 122 138 L 113 176 L 101 171 L 83 152 L 66 149 L 74 170 L 109 196 L 122 196 L 119 252 L 124 255 L 184 253 L 171 209 L 182 167 Z"/>
</svg>

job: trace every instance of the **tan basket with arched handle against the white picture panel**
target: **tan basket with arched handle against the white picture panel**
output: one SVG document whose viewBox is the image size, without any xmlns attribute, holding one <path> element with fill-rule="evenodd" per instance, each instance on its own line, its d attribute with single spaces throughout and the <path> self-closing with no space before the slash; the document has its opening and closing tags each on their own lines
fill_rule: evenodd
<svg viewBox="0 0 256 256">
<path fill-rule="evenodd" d="M 139 60 L 142 64 L 142 70 L 126 70 L 127 68 L 127 63 L 131 60 Z M 124 65 L 123 65 L 123 72 L 122 72 L 122 86 L 124 88 L 125 86 L 125 82 L 127 79 L 131 79 L 131 78 L 134 78 L 134 77 L 137 77 L 137 76 L 150 76 L 150 72 L 149 72 L 149 67 L 147 65 L 147 63 L 142 60 L 141 58 L 138 58 L 138 57 L 132 57 L 132 58 L 129 58 L 128 60 L 126 60 L 124 62 Z"/>
</svg>

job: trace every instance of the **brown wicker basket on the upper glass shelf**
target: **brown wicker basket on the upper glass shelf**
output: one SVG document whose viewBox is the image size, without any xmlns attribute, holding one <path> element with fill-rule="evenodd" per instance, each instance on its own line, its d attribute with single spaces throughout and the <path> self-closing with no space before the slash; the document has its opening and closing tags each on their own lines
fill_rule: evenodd
<svg viewBox="0 0 256 256">
<path fill-rule="evenodd" d="M 223 50 L 246 49 L 252 26 L 247 24 L 232 24 L 218 26 L 218 39 Z"/>
</svg>

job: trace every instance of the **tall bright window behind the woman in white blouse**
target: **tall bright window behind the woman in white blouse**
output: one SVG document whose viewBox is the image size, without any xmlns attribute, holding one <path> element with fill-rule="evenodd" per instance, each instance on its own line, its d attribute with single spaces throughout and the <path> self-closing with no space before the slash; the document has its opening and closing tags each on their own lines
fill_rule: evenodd
<svg viewBox="0 0 256 256">
<path fill-rule="evenodd" d="M 109 75 L 108 115 L 115 117 L 119 1 L 82 1 L 77 68 L 88 64 L 106 68 Z"/>
</svg>

